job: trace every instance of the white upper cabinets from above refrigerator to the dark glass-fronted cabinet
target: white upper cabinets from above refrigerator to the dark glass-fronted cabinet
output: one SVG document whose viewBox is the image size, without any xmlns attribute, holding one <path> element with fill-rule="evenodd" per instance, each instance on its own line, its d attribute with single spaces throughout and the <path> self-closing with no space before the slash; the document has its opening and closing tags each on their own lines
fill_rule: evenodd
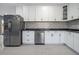
<svg viewBox="0 0 79 59">
<path fill-rule="evenodd" d="M 24 21 L 61 21 L 63 20 L 62 6 L 17 6 L 16 14 Z"/>
</svg>

